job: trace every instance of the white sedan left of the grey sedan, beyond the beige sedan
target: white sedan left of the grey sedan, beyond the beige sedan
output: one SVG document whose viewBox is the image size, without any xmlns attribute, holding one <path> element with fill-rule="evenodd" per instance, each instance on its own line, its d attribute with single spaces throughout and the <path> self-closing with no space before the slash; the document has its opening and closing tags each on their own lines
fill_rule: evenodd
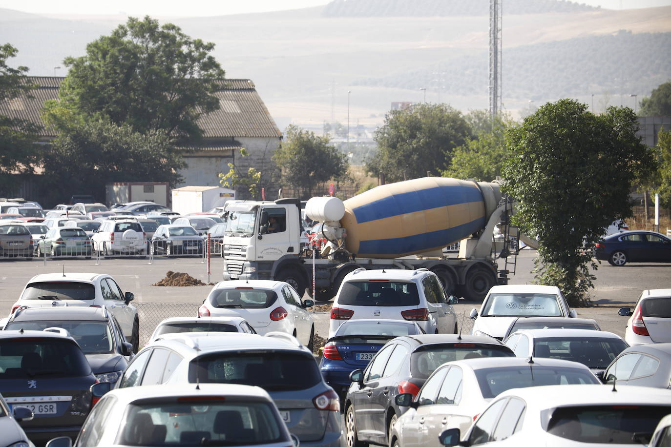
<svg viewBox="0 0 671 447">
<path fill-rule="evenodd" d="M 562 359 L 582 363 L 595 374 L 605 371 L 629 346 L 619 335 L 605 330 L 528 329 L 503 340 L 517 357 Z"/>
</svg>

